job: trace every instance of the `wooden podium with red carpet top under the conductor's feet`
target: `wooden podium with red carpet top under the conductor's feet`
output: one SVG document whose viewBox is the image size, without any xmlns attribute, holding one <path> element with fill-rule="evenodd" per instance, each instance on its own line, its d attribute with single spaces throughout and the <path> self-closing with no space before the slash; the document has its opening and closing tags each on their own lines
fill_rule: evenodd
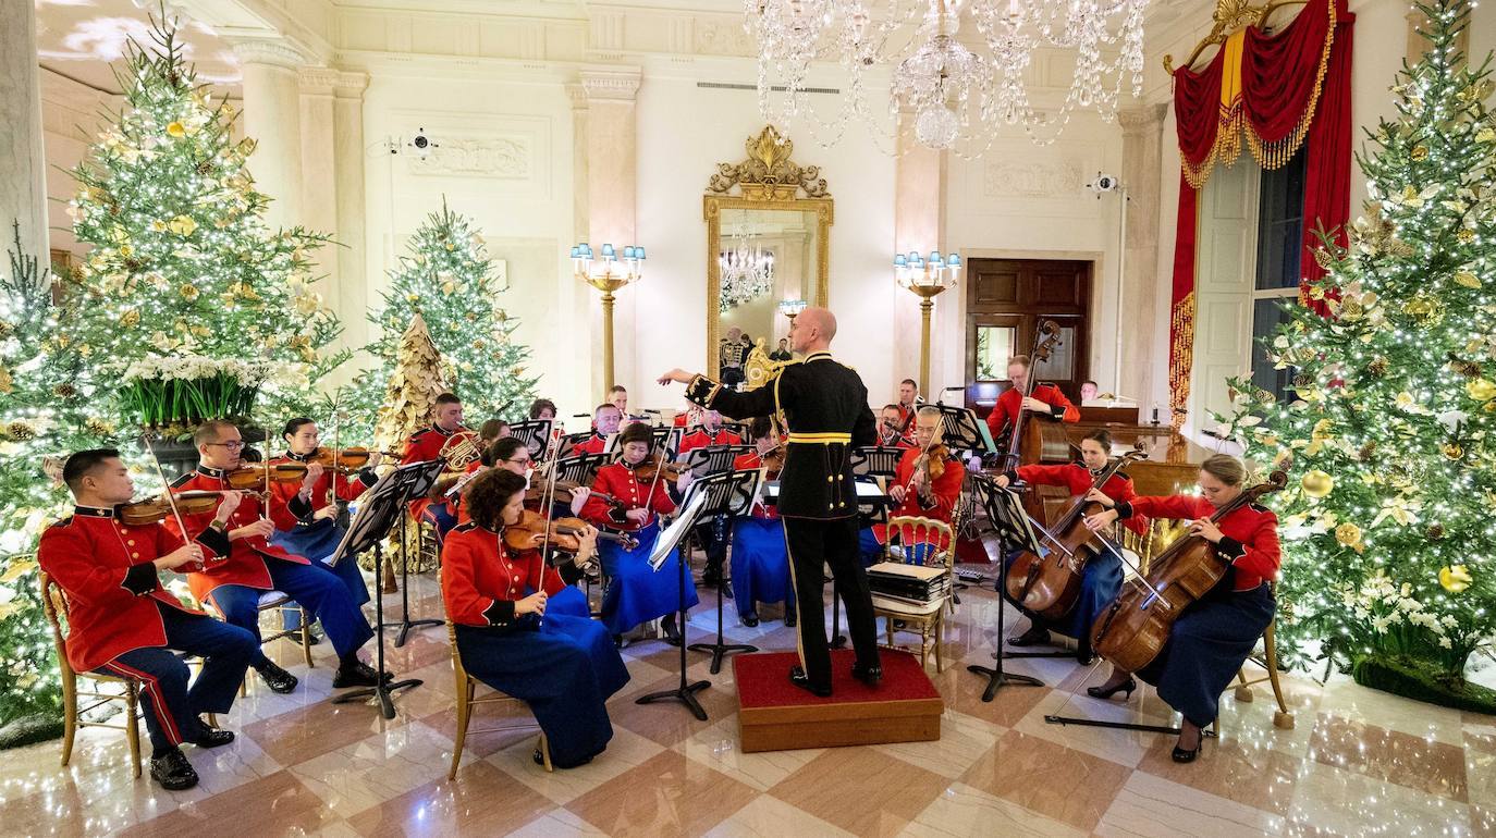
<svg viewBox="0 0 1496 838">
<path fill-rule="evenodd" d="M 821 699 L 790 684 L 794 652 L 733 658 L 738 739 L 745 753 L 928 742 L 939 739 L 945 709 L 917 657 L 883 652 L 883 684 L 872 690 L 851 676 L 854 652 L 832 652 L 832 694 Z"/>
</svg>

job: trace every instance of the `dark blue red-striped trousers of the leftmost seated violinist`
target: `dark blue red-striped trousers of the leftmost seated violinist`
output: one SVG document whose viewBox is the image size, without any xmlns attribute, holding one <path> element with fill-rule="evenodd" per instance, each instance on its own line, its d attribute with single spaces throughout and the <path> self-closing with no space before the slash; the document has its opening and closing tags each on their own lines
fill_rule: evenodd
<svg viewBox="0 0 1496 838">
<path fill-rule="evenodd" d="M 260 654 L 260 643 L 238 626 L 163 603 L 156 608 L 166 627 L 166 645 L 127 651 L 94 672 L 141 682 L 145 730 L 159 756 L 202 736 L 197 714 L 229 712 L 244 670 Z M 187 685 L 187 664 L 172 649 L 202 658 L 202 672 L 191 687 Z"/>
</svg>

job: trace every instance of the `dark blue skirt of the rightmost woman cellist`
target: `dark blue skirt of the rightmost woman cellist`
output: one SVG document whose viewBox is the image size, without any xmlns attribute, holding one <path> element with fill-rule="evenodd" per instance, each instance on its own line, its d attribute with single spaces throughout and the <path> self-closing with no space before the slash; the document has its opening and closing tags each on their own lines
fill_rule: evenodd
<svg viewBox="0 0 1496 838">
<path fill-rule="evenodd" d="M 1219 585 L 1186 608 L 1174 621 L 1164 651 L 1137 672 L 1158 687 L 1158 697 L 1200 727 L 1215 721 L 1221 693 L 1252 654 L 1276 608 L 1266 582 L 1236 593 L 1233 576 L 1227 573 Z"/>
</svg>

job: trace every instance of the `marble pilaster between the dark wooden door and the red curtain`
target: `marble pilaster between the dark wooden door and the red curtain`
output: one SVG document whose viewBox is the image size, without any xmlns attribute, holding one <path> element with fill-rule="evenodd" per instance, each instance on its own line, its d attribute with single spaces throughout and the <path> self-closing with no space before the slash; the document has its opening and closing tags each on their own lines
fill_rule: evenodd
<svg viewBox="0 0 1496 838">
<path fill-rule="evenodd" d="M 1164 117 L 1168 105 L 1147 105 L 1118 111 L 1122 126 L 1122 186 L 1126 187 L 1126 248 L 1122 265 L 1122 305 L 1118 326 L 1122 335 L 1122 356 L 1116 382 L 1101 382 L 1101 391 L 1116 388 L 1118 395 L 1138 401 L 1143 416 L 1149 413 L 1149 394 L 1155 382 L 1167 380 L 1168 359 L 1155 356 L 1153 323 L 1159 305 L 1168 305 L 1167 277 L 1158 266 L 1158 202 L 1162 183 Z M 1115 352 L 1115 346 L 1103 352 Z"/>
</svg>

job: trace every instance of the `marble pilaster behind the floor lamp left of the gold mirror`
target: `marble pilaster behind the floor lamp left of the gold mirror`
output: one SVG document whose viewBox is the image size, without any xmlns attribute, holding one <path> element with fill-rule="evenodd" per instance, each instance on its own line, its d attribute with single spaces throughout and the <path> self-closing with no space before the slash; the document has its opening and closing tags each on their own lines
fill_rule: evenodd
<svg viewBox="0 0 1496 838">
<path fill-rule="evenodd" d="M 622 248 L 636 241 L 634 207 L 637 205 L 637 114 L 636 100 L 642 72 L 639 67 L 586 67 L 579 73 L 582 93 L 586 99 L 585 127 L 576 142 L 586 150 L 586 165 L 577 174 L 577 186 L 586 187 L 586 241 L 594 251 L 610 242 Z M 585 181 L 583 181 L 585 178 Z M 648 280 L 648 268 L 645 274 Z M 595 295 L 595 292 L 592 293 Z M 637 391 L 643 382 L 637 377 L 634 352 L 636 316 L 639 296 L 633 289 L 618 292 L 613 313 L 613 371 L 618 383 Z M 592 319 L 600 323 L 601 302 L 594 302 Z M 601 368 L 603 347 L 594 353 L 594 370 Z M 601 373 L 594 376 L 594 389 L 601 400 L 604 383 Z M 637 398 L 637 397 L 636 397 Z"/>
</svg>

